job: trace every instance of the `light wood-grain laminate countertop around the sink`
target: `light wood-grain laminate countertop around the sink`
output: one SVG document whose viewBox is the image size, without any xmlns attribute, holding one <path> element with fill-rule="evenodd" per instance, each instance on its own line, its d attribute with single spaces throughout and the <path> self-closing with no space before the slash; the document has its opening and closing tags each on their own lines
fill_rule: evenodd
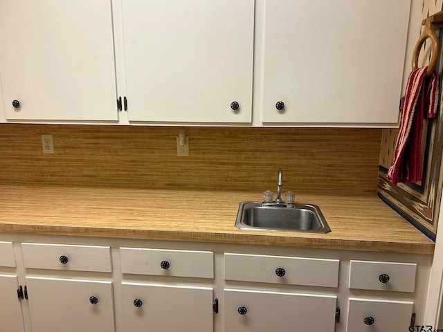
<svg viewBox="0 0 443 332">
<path fill-rule="evenodd" d="M 296 193 L 320 207 L 332 232 L 239 230 L 240 201 L 257 192 L 0 186 L 0 232 L 249 243 L 433 254 L 434 242 L 375 196 Z"/>
</svg>

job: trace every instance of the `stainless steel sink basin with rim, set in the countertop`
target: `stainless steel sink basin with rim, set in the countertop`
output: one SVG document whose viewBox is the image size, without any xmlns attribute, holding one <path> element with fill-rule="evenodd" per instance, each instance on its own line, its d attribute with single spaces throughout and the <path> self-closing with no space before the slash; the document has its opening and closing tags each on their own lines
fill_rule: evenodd
<svg viewBox="0 0 443 332">
<path fill-rule="evenodd" d="M 317 205 L 242 202 L 235 226 L 242 230 L 328 233 L 331 231 Z"/>
</svg>

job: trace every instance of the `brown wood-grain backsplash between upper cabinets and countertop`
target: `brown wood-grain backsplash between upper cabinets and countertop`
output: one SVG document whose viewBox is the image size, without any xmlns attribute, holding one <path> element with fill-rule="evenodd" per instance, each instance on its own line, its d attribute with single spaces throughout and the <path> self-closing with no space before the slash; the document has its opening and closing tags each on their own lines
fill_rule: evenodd
<svg viewBox="0 0 443 332">
<path fill-rule="evenodd" d="M 381 129 L 0 124 L 1 183 L 374 195 Z M 42 153 L 51 133 L 55 154 Z"/>
</svg>

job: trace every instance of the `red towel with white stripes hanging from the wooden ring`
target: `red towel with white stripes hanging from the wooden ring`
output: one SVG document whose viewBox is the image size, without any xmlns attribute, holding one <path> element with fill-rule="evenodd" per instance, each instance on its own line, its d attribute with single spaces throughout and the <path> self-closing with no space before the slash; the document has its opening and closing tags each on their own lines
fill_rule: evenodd
<svg viewBox="0 0 443 332">
<path fill-rule="evenodd" d="M 408 77 L 394 159 L 386 174 L 393 185 L 422 180 L 423 119 L 435 118 L 438 104 L 438 75 L 434 71 L 426 77 L 427 68 L 414 69 Z"/>
</svg>

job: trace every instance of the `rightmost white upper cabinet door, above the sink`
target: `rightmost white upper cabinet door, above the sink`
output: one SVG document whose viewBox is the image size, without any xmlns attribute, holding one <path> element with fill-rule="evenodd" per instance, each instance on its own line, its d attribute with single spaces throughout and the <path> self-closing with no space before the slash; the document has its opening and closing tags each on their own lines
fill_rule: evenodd
<svg viewBox="0 0 443 332">
<path fill-rule="evenodd" d="M 265 2 L 263 122 L 397 123 L 410 1 Z"/>
</svg>

